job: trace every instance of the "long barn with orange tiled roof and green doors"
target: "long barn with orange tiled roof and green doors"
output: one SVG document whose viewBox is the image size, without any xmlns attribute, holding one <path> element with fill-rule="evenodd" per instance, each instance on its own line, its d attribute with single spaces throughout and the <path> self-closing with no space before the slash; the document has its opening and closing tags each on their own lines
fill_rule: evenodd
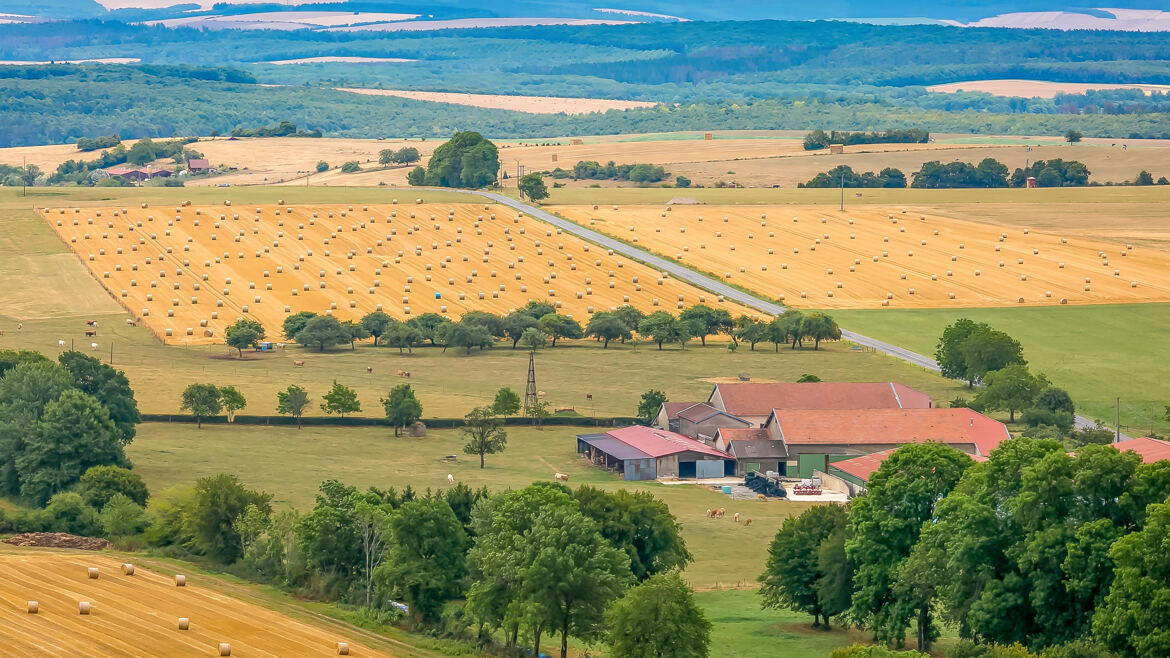
<svg viewBox="0 0 1170 658">
<path fill-rule="evenodd" d="M 787 473 L 811 478 L 830 464 L 938 441 L 986 457 L 1010 439 L 1007 426 L 970 409 L 773 410 L 764 426 L 787 451 Z"/>
</svg>

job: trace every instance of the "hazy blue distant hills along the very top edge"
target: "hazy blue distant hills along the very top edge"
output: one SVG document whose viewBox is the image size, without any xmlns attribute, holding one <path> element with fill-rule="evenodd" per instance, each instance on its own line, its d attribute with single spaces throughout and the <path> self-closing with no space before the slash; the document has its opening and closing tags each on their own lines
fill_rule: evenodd
<svg viewBox="0 0 1170 658">
<path fill-rule="evenodd" d="M 736 2 L 709 2 L 708 0 L 626 0 L 613 2 L 599 0 L 597 4 L 577 0 L 504 0 L 488 2 L 484 0 L 434 0 L 428 2 L 381 1 L 381 0 L 342 0 L 338 2 L 307 4 L 303 0 L 283 2 L 255 2 L 241 7 L 243 2 L 228 0 L 223 5 L 212 7 L 214 0 L 184 2 L 174 0 L 0 0 L 0 14 L 21 14 L 43 18 L 97 18 L 111 16 L 126 20 L 140 20 L 143 14 L 163 13 L 177 15 L 192 9 L 209 8 L 211 13 L 240 13 L 241 11 L 274 9 L 331 9 L 363 12 L 401 12 L 439 16 L 564 16 L 564 18 L 599 18 L 604 14 L 598 8 L 622 9 L 646 15 L 629 15 L 633 20 L 662 20 L 653 14 L 680 16 L 691 20 L 817 20 L 817 19 L 874 19 L 878 21 L 937 20 L 958 23 L 1000 25 L 1011 27 L 1066 27 L 1061 21 L 1053 21 L 1051 13 L 1065 13 L 1072 18 L 1065 22 L 1071 27 L 1102 29 L 1123 27 L 1122 23 L 1110 23 L 1114 15 L 1108 9 L 1079 7 L 1060 0 L 1035 0 L 1026 6 L 1006 0 L 902 0 L 899 2 L 874 2 L 873 0 L 821 0 L 819 2 L 794 2 L 792 0 L 738 0 Z M 1109 5 L 1122 11 L 1151 9 L 1157 0 L 1109 0 Z M 129 8 L 133 6 L 140 8 Z M 122 8 L 110 12 L 106 7 Z M 147 9 L 147 11 L 143 11 Z M 1048 13 L 1049 15 L 1042 15 Z M 1010 14 L 1010 18 L 1002 15 Z M 1085 20 L 1078 15 L 1088 19 Z M 608 14 L 613 18 L 613 14 Z M 1122 18 L 1122 16 L 1117 16 Z M 1103 20 L 1101 20 L 1103 19 Z M 2 19 L 0 19 L 2 20 Z M 979 21 L 985 21 L 979 23 Z M 1142 29 L 1142 28 L 1138 28 Z M 1150 28 L 1145 28 L 1150 29 Z M 1154 28 L 1156 29 L 1156 28 Z"/>
</svg>

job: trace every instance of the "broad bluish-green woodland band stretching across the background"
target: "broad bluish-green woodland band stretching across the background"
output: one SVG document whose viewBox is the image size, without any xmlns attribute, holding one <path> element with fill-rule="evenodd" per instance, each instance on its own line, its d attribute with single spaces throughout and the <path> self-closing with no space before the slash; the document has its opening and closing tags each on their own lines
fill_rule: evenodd
<svg viewBox="0 0 1170 658">
<path fill-rule="evenodd" d="M 415 61 L 263 63 L 321 55 Z M 1170 135 L 1164 94 L 1025 100 L 923 88 L 996 77 L 1165 83 L 1170 41 L 1159 34 L 784 21 L 435 33 L 200 32 L 117 21 L 0 26 L 4 60 L 110 56 L 143 63 L 0 67 L 0 126 L 7 126 L 0 145 L 228 133 L 281 121 L 346 137 L 438 137 L 468 128 L 490 137 L 772 128 Z M 343 85 L 666 105 L 536 116 L 330 90 Z"/>
</svg>

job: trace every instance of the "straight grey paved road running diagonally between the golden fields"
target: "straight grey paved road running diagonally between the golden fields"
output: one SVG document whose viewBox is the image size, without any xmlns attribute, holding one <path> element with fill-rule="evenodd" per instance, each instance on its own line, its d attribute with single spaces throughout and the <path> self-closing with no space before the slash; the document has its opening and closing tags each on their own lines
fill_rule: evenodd
<svg viewBox="0 0 1170 658">
<path fill-rule="evenodd" d="M 453 190 L 443 189 L 441 191 L 452 192 Z M 519 201 L 512 199 L 511 197 L 505 197 L 503 194 L 497 194 L 495 192 L 473 192 L 463 190 L 457 190 L 457 192 L 479 197 L 487 197 L 496 203 L 503 204 L 519 212 L 528 213 L 542 221 L 546 221 L 565 231 L 566 233 L 571 233 L 573 235 L 577 235 L 578 238 L 584 238 L 585 240 L 589 240 L 590 242 L 593 242 L 596 245 L 600 245 L 607 249 L 613 249 L 614 253 L 622 254 L 625 256 L 641 261 L 651 267 L 669 273 L 670 276 L 675 279 L 687 281 L 688 283 L 691 283 L 698 288 L 702 288 L 716 295 L 723 295 L 725 299 L 735 300 L 736 302 L 739 302 L 743 306 L 755 308 L 757 310 L 766 313 L 768 315 L 779 315 L 785 311 L 785 308 L 777 303 L 770 302 L 763 297 L 757 297 L 751 293 L 745 293 L 737 288 L 732 288 L 731 286 L 728 286 L 727 283 L 717 279 L 713 279 L 706 274 L 700 274 L 674 261 L 663 259 L 661 256 L 656 256 L 652 253 L 646 252 L 645 249 L 610 238 L 604 233 L 598 233 L 597 231 L 586 228 L 579 224 L 569 221 L 566 219 L 562 219 L 537 206 L 525 204 L 524 201 Z M 910 351 L 908 349 L 900 348 L 897 345 L 893 345 L 890 343 L 886 343 L 875 338 L 870 338 L 868 336 L 862 336 L 861 334 L 854 331 L 846 331 L 844 329 L 841 330 L 841 337 L 859 345 L 863 345 L 875 351 L 893 356 L 894 358 L 900 358 L 907 363 L 917 365 L 918 368 L 925 368 L 927 370 L 934 370 L 935 372 L 938 372 L 938 362 L 928 356 L 923 356 L 921 354 Z M 1085 429 L 1085 427 L 1094 427 L 1096 426 L 1096 424 L 1089 420 L 1088 418 L 1085 418 L 1083 416 L 1078 416 L 1076 426 L 1080 429 Z M 1128 438 L 1129 437 L 1124 434 L 1121 436 L 1122 440 Z"/>
</svg>

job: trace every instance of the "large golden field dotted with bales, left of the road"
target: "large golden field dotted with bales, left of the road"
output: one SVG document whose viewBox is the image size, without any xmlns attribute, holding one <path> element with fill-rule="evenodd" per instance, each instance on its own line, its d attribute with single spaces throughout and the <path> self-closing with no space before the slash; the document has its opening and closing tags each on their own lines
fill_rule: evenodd
<svg viewBox="0 0 1170 658">
<path fill-rule="evenodd" d="M 583 323 L 632 304 L 706 302 L 688 283 L 487 204 L 184 205 L 41 213 L 132 316 L 168 343 L 221 343 L 239 317 L 281 335 L 290 313 L 357 320 L 508 313 L 529 300 Z"/>
</svg>

